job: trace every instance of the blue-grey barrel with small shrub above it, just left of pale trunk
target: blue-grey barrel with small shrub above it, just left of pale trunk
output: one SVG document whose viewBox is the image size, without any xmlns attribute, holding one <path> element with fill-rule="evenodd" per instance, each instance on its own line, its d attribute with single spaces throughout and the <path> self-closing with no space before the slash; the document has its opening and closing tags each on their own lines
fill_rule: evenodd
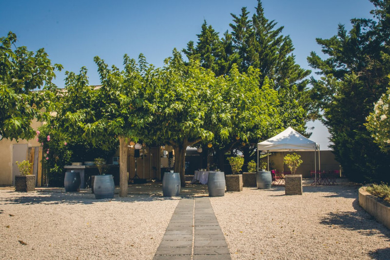
<svg viewBox="0 0 390 260">
<path fill-rule="evenodd" d="M 95 193 L 95 199 L 113 199 L 114 198 L 114 179 L 111 174 L 106 175 L 108 172 L 106 161 L 102 158 L 96 158 L 95 164 L 98 167 L 99 175 L 96 175 L 93 181 L 93 191 Z"/>
</svg>

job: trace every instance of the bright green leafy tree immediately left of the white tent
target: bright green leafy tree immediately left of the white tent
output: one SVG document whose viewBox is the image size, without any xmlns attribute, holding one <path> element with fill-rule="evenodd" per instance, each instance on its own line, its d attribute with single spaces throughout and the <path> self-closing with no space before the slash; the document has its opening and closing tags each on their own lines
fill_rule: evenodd
<svg viewBox="0 0 390 260">
<path fill-rule="evenodd" d="M 258 87 L 257 69 L 239 73 L 237 66 L 233 65 L 228 76 L 217 79 L 219 81 L 212 89 L 213 104 L 206 120 L 214 133 L 213 149 L 218 167 L 224 171 L 227 152 L 249 147 L 251 143 L 273 135 L 280 121 L 275 108 L 277 92 L 268 85 Z M 253 152 L 254 147 L 248 149 Z"/>
</svg>

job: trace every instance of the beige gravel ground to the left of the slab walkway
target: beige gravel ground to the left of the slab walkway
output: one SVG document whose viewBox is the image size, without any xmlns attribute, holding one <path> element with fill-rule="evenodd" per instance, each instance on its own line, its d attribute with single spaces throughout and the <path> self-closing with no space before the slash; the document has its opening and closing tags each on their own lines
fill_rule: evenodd
<svg viewBox="0 0 390 260">
<path fill-rule="evenodd" d="M 0 190 L 0 259 L 153 259 L 177 203 Z"/>
</svg>

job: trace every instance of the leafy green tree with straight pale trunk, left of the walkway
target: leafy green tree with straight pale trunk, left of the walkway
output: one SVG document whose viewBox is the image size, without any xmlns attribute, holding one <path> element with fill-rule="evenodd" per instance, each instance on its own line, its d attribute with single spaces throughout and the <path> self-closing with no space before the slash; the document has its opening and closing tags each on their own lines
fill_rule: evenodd
<svg viewBox="0 0 390 260">
<path fill-rule="evenodd" d="M 120 196 L 126 197 L 128 190 L 126 149 L 129 140 L 138 140 L 142 136 L 140 129 L 150 120 L 143 113 L 143 99 L 148 90 L 144 79 L 152 84 L 148 66 L 143 55 L 139 56 L 139 64 L 134 59 L 124 56 L 124 70 L 116 66 L 111 69 L 99 57 L 95 57 L 98 65 L 101 85 L 90 86 L 87 70 L 81 68 L 76 75 L 67 72 L 67 79 L 62 95 L 58 95 L 57 116 L 60 129 L 71 137 L 83 137 L 98 147 L 110 147 L 119 140 L 120 149 Z"/>
</svg>

